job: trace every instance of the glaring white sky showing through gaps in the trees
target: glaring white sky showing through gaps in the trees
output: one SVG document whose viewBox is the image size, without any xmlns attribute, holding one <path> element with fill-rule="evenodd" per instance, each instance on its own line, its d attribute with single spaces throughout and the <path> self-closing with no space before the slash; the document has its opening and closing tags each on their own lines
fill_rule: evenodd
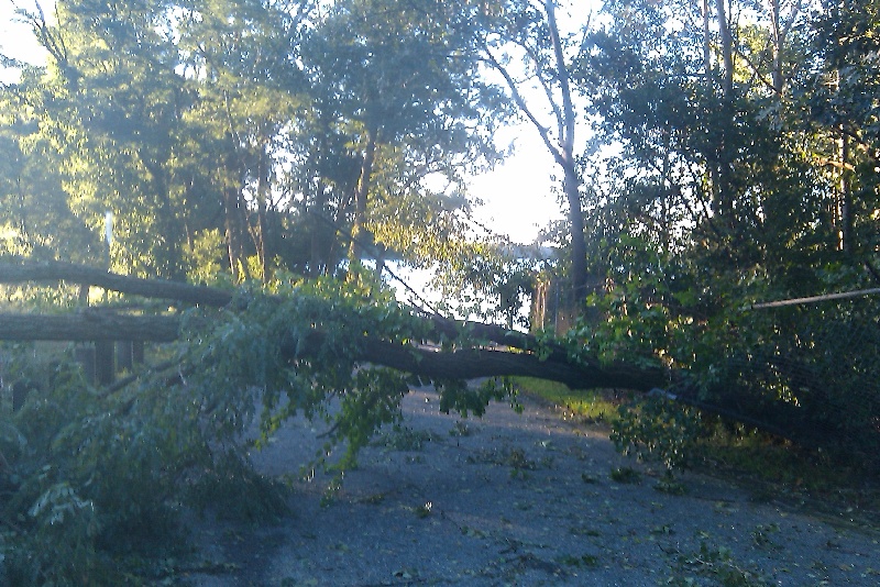
<svg viewBox="0 0 880 587">
<path fill-rule="evenodd" d="M 40 64 L 45 60 L 45 53 L 30 27 L 15 22 L 14 14 L 15 8 L 33 10 L 34 5 L 34 0 L 0 0 L 0 53 Z M 54 0 L 42 0 L 41 5 L 50 18 Z M 0 68 L 0 82 L 15 79 L 15 71 Z M 536 240 L 540 229 L 562 217 L 551 191 L 550 176 L 557 170 L 535 129 L 528 124 L 504 129 L 498 142 L 502 147 L 514 142 L 516 149 L 495 170 L 472 179 L 472 196 L 484 202 L 474 210 L 474 217 L 494 232 L 528 244 Z"/>
</svg>

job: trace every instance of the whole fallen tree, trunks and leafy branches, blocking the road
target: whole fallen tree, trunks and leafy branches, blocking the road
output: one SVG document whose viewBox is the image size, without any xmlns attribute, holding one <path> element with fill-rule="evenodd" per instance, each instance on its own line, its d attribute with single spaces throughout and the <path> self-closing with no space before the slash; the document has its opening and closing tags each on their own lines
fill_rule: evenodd
<svg viewBox="0 0 880 587">
<path fill-rule="evenodd" d="M 169 299 L 174 309 L 163 304 L 157 311 L 155 304 L 127 299 L 124 307 L 82 307 L 64 314 L 0 313 L 0 340 L 132 339 L 174 342 L 175 352 L 170 357 L 157 353 L 152 368 L 102 388 L 86 385 L 82 369 L 69 361 L 52 357 L 26 366 L 31 370 L 23 379 L 34 384 L 32 399 L 0 413 L 7 431 L 0 435 L 0 484 L 7 496 L 0 500 L 0 525 L 29 545 L 21 551 L 28 558 L 21 555 L 19 563 L 8 552 L 6 564 L 20 567 L 32 565 L 31 553 L 57 551 L 67 564 L 73 549 L 98 553 L 102 544 L 119 544 L 127 550 L 156 536 L 183 535 L 175 525 L 180 503 L 242 512 L 251 523 L 252 516 L 277 516 L 287 497 L 280 485 L 250 468 L 251 445 L 242 439 L 254 438 L 251 424 L 258 419 L 263 435 L 255 442 L 262 442 L 282 422 L 306 417 L 326 444 L 304 470 L 339 475 L 356 464 L 358 451 L 382 427 L 402 423 L 410 374 L 435 383 L 440 410 L 462 414 L 480 414 L 491 400 L 516 401 L 513 389 L 493 378 L 481 386 L 462 379 L 528 375 L 573 388 L 646 391 L 666 381 L 660 369 L 602 365 L 560 341 L 429 315 L 340 283 L 288 285 L 268 296 L 69 264 L 0 262 L 0 283 L 31 280 Z M 4 363 L 4 375 L 14 363 Z M 698 396 L 648 396 L 721 412 L 698 403 Z M 729 398 L 729 416 L 743 421 L 737 406 L 743 395 L 722 397 Z M 644 430 L 656 434 L 658 429 L 634 425 L 622 438 L 640 443 Z M 672 440 L 673 447 L 682 445 Z M 338 480 L 341 476 L 328 489 Z M 65 523 L 57 523 L 56 511 L 65 512 Z M 87 571 L 78 572 L 77 580 L 94 576 L 91 567 Z"/>
</svg>

